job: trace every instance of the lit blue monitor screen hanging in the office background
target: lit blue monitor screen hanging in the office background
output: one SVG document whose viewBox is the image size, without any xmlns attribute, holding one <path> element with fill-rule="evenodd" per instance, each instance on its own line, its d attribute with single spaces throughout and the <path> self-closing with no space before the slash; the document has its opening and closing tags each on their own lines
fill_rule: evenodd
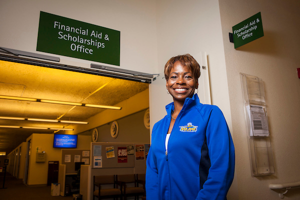
<svg viewBox="0 0 300 200">
<path fill-rule="evenodd" d="M 76 148 L 76 134 L 54 134 L 53 147 L 56 148 Z"/>
</svg>

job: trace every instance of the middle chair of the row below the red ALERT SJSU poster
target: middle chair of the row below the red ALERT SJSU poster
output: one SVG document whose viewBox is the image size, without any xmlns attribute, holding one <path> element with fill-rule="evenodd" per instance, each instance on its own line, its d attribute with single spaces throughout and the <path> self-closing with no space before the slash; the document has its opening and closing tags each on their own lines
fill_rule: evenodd
<svg viewBox="0 0 300 200">
<path fill-rule="evenodd" d="M 127 196 L 134 196 L 134 199 L 138 199 L 139 195 L 144 194 L 144 188 L 137 186 L 135 174 L 116 175 L 116 180 L 122 183 L 122 193 L 124 200 Z"/>
</svg>

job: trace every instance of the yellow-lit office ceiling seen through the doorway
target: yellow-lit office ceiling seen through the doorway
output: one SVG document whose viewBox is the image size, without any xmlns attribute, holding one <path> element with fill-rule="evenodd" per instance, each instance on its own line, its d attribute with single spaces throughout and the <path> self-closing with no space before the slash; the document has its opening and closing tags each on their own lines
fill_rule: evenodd
<svg viewBox="0 0 300 200">
<path fill-rule="evenodd" d="M 147 88 L 148 83 L 0 60 L 0 95 L 115 105 Z M 0 99 L 0 116 L 88 121 L 89 117 L 105 110 L 72 107 Z M 0 119 L 0 125 L 67 128 L 69 124 Z M 53 132 L 49 129 L 0 127 L 0 151 L 9 153 L 32 133 Z M 63 134 L 63 130 L 58 133 Z"/>
</svg>

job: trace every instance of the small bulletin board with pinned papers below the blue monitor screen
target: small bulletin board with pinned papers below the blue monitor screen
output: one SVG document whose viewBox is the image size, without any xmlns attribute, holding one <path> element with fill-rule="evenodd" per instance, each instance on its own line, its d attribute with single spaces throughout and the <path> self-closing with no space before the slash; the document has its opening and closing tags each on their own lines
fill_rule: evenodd
<svg viewBox="0 0 300 200">
<path fill-rule="evenodd" d="M 61 164 L 65 164 L 65 173 L 77 173 L 75 161 L 82 162 L 87 159 L 86 164 L 90 164 L 90 149 L 61 149 Z"/>
</svg>

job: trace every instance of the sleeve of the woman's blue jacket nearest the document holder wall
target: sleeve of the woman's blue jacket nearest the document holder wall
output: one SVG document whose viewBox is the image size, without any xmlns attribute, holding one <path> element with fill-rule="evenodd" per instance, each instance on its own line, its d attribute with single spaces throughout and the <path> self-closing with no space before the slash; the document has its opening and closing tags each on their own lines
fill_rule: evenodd
<svg viewBox="0 0 300 200">
<path fill-rule="evenodd" d="M 210 168 L 197 200 L 224 200 L 233 180 L 234 146 L 221 110 L 214 106 L 206 127 Z"/>
</svg>

